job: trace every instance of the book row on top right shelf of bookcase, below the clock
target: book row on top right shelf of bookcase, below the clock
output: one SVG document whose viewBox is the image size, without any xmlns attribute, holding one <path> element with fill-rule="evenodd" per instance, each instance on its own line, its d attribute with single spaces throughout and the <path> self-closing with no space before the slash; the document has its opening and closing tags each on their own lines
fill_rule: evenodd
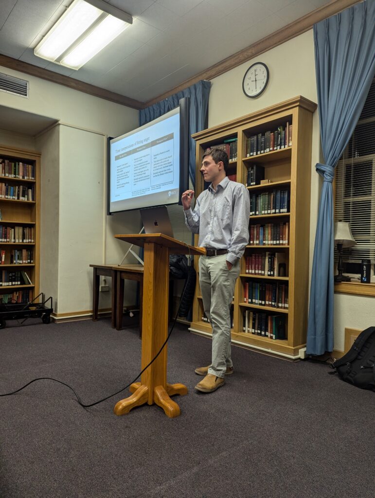
<svg viewBox="0 0 375 498">
<path fill-rule="evenodd" d="M 251 157 L 272 150 L 279 150 L 292 145 L 292 125 L 280 124 L 273 131 L 257 133 L 246 139 L 246 157 Z"/>
</svg>

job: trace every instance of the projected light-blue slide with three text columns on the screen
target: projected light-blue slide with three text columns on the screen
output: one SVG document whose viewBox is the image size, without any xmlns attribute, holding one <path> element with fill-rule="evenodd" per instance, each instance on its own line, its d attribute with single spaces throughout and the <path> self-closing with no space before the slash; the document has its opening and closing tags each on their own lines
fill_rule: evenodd
<svg viewBox="0 0 375 498">
<path fill-rule="evenodd" d="M 178 202 L 179 140 L 179 108 L 167 118 L 111 140 L 111 207 Z"/>
</svg>

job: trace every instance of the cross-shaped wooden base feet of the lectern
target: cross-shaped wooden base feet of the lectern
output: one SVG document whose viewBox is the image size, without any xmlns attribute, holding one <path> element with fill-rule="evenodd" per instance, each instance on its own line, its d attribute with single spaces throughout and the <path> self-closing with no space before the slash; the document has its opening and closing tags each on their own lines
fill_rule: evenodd
<svg viewBox="0 0 375 498">
<path fill-rule="evenodd" d="M 129 390 L 132 392 L 131 396 L 116 403 L 114 408 L 114 413 L 116 415 L 125 415 L 125 413 L 129 413 L 135 406 L 147 403 L 148 387 L 146 385 L 141 384 L 140 382 L 134 382 L 130 385 Z M 178 417 L 181 414 L 180 407 L 170 398 L 170 396 L 173 396 L 174 394 L 184 395 L 187 394 L 187 392 L 186 385 L 180 383 L 167 383 L 166 388 L 162 385 L 157 385 L 154 388 L 153 402 L 164 410 L 167 417 Z"/>
</svg>

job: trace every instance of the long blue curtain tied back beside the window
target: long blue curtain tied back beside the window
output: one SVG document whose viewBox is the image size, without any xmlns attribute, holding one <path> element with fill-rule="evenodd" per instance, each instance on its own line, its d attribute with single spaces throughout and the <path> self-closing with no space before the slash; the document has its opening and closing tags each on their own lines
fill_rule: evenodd
<svg viewBox="0 0 375 498">
<path fill-rule="evenodd" d="M 333 195 L 335 166 L 361 115 L 375 74 L 375 1 L 314 25 L 320 136 L 325 164 L 311 275 L 306 353 L 333 351 Z"/>
</svg>

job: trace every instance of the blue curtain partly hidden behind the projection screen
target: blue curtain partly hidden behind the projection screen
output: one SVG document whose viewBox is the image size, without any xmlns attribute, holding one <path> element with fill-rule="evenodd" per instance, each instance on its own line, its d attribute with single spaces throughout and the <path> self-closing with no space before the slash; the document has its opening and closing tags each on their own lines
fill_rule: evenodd
<svg viewBox="0 0 375 498">
<path fill-rule="evenodd" d="M 196 133 L 204 129 L 207 111 L 208 111 L 208 97 L 210 95 L 211 82 L 199 81 L 194 83 L 185 90 L 181 90 L 166 99 L 153 104 L 139 111 L 139 126 L 149 123 L 150 121 L 159 118 L 163 114 L 171 111 L 178 106 L 180 99 L 183 97 L 190 97 L 190 133 Z M 190 178 L 195 185 L 195 140 L 190 138 L 190 159 L 189 159 L 189 173 Z"/>
</svg>

